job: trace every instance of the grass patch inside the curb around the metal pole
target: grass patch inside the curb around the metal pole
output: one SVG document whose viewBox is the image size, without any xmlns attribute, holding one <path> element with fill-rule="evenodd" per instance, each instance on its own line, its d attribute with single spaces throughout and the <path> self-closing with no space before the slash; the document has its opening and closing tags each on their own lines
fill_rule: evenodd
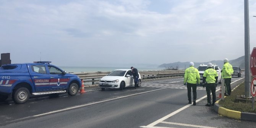
<svg viewBox="0 0 256 128">
<path fill-rule="evenodd" d="M 245 94 L 245 83 L 241 83 L 234 91 L 231 92 L 230 96 L 225 97 L 224 100 L 220 100 L 219 105 L 226 109 L 235 110 L 239 112 L 250 112 L 256 113 L 256 102 L 254 102 L 254 110 L 251 101 L 236 101 L 236 96 Z M 254 97 L 256 98 L 256 97 Z"/>
</svg>

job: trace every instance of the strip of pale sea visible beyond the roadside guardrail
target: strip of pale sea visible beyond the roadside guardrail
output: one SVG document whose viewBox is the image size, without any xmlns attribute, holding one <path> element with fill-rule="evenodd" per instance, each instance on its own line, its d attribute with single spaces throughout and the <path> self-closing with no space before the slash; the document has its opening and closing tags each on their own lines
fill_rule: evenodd
<svg viewBox="0 0 256 128">
<path fill-rule="evenodd" d="M 130 69 L 130 67 L 93 67 L 93 66 L 59 66 L 66 73 L 88 73 L 88 72 L 97 72 L 97 71 L 113 71 L 116 69 Z M 134 67 L 137 68 L 137 67 Z M 137 68 L 138 71 L 157 71 L 164 70 L 164 68 Z"/>
</svg>

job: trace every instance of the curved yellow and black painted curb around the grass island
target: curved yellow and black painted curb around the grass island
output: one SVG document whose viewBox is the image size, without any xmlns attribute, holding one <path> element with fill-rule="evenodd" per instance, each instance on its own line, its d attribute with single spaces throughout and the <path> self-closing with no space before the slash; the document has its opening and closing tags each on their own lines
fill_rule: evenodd
<svg viewBox="0 0 256 128">
<path fill-rule="evenodd" d="M 213 110 L 217 112 L 219 115 L 230 117 L 237 120 L 246 120 L 246 121 L 256 122 L 256 113 L 239 112 L 235 110 L 226 109 L 219 105 L 220 100 L 221 99 L 217 100 L 213 106 Z"/>
</svg>

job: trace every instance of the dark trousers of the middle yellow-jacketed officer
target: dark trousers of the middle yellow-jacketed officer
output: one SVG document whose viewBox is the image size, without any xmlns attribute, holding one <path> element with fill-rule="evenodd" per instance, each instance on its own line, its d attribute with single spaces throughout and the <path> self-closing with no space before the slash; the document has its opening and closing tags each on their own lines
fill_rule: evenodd
<svg viewBox="0 0 256 128">
<path fill-rule="evenodd" d="M 215 83 L 206 84 L 207 104 L 211 104 L 211 92 L 212 92 L 212 103 L 216 102 L 216 86 Z"/>
</svg>

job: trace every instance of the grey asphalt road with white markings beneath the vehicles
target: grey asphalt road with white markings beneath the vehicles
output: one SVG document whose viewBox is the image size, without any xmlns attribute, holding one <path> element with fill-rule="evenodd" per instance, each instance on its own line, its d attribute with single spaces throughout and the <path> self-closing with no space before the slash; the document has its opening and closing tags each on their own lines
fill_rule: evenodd
<svg viewBox="0 0 256 128">
<path fill-rule="evenodd" d="M 244 75 L 242 76 L 242 78 Z M 240 80 L 239 80 L 240 79 Z M 237 81 L 238 80 L 238 81 Z M 234 82 L 236 81 L 236 82 Z M 232 88 L 244 81 L 232 78 Z M 217 89 L 220 87 L 217 87 Z M 123 91 L 86 88 L 67 94 L 32 97 L 25 104 L 0 103 L 0 128 L 252 128 L 256 122 L 221 117 L 206 107 L 197 88 L 197 105 L 188 103 L 183 77 L 146 81 Z M 216 95 L 219 93 L 216 92 Z"/>
</svg>

